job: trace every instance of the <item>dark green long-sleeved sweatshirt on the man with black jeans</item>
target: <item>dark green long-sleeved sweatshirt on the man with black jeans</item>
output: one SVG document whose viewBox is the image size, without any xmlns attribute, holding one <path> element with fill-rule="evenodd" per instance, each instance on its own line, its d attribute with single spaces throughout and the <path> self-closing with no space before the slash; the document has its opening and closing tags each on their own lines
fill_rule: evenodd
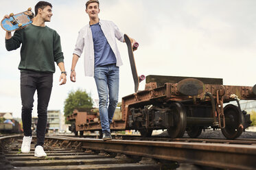
<svg viewBox="0 0 256 170">
<path fill-rule="evenodd" d="M 23 29 L 14 32 L 12 38 L 5 40 L 5 47 L 8 51 L 21 47 L 21 62 L 19 69 L 55 72 L 54 62 L 63 62 L 64 57 L 60 45 L 58 33 L 47 26 L 38 27 L 28 25 Z"/>
</svg>

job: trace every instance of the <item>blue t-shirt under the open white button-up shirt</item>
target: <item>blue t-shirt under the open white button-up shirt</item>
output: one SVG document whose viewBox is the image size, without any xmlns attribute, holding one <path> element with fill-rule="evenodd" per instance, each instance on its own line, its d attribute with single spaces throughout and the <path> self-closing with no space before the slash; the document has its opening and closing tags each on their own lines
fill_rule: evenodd
<svg viewBox="0 0 256 170">
<path fill-rule="evenodd" d="M 102 28 L 99 23 L 91 25 L 91 32 L 93 33 L 93 47 L 94 47 L 94 65 L 104 66 L 107 64 L 114 64 L 117 62 L 115 53 L 111 49 Z"/>
</svg>

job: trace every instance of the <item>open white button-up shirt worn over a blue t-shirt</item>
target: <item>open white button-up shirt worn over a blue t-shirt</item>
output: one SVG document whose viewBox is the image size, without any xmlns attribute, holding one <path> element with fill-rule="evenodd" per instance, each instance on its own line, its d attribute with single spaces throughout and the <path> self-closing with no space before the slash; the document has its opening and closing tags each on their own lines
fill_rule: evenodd
<svg viewBox="0 0 256 170">
<path fill-rule="evenodd" d="M 124 34 L 122 34 L 117 25 L 112 21 L 103 21 L 99 22 L 102 32 L 108 41 L 111 49 L 115 53 L 115 58 L 117 59 L 116 66 L 121 66 L 123 62 L 121 61 L 121 56 L 119 50 L 117 49 L 117 40 L 124 42 Z M 82 55 L 82 51 L 84 50 L 84 74 L 85 76 L 94 76 L 94 49 L 93 49 L 93 34 L 91 32 L 90 25 L 84 26 L 80 29 L 78 34 L 78 40 L 76 41 L 74 54 L 79 57 Z"/>
</svg>

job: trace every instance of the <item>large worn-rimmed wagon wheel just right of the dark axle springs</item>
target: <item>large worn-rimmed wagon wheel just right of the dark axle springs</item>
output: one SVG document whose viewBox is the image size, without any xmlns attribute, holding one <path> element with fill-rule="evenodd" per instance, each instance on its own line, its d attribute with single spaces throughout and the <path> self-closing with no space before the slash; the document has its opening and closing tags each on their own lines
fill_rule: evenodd
<svg viewBox="0 0 256 170">
<path fill-rule="evenodd" d="M 180 103 L 174 103 L 171 104 L 171 112 L 174 114 L 174 126 L 167 128 L 167 132 L 170 138 L 181 138 L 187 126 L 185 108 Z"/>
</svg>

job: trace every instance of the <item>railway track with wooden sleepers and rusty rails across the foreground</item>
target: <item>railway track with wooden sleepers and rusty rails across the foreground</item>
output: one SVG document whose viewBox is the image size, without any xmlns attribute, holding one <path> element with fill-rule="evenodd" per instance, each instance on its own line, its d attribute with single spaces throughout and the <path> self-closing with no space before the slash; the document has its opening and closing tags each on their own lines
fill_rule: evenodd
<svg viewBox="0 0 256 170">
<path fill-rule="evenodd" d="M 35 139 L 35 138 L 34 138 Z M 222 169 L 255 169 L 255 141 L 207 143 L 188 141 L 102 141 L 95 138 L 45 138 L 47 158 L 21 154 L 22 136 L 0 138 L 5 169 L 163 169 L 176 162 Z M 226 141 L 226 140 L 224 140 Z M 230 141 L 230 140 L 229 140 Z M 235 140 L 237 141 L 237 140 Z M 142 164 L 143 163 L 143 164 Z"/>
</svg>

